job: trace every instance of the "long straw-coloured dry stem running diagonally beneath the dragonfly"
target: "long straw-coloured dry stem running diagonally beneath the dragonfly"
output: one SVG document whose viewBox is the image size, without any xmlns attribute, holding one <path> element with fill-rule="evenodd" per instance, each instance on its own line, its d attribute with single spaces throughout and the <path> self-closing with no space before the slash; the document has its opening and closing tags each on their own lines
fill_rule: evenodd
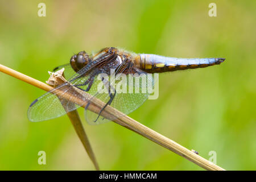
<svg viewBox="0 0 256 182">
<path fill-rule="evenodd" d="M 0 64 L 0 71 L 6 73 L 7 75 L 13 76 L 15 78 L 18 78 L 19 80 L 22 80 L 24 82 L 27 82 L 28 84 L 34 85 L 40 89 L 46 90 L 47 92 L 51 89 L 53 89 L 51 86 L 44 84 L 43 82 L 40 82 L 38 80 L 35 80 L 34 78 L 31 78 L 29 76 L 23 75 L 22 73 L 19 73 L 17 71 L 14 71 L 13 69 L 7 68 Z M 65 99 L 72 101 L 72 97 L 74 96 L 67 94 L 67 96 L 63 96 Z M 76 104 L 80 106 L 86 106 L 85 101 L 82 100 L 76 100 Z M 98 102 L 97 100 L 95 100 Z M 88 109 L 98 113 L 100 111 L 99 107 L 102 105 L 102 103 L 94 103 L 95 105 L 92 105 L 91 107 L 88 107 Z M 106 111 L 105 111 L 106 110 Z M 109 117 L 109 115 L 116 114 L 117 110 L 115 110 L 113 107 L 106 107 L 102 115 L 106 118 Z M 120 115 L 123 115 L 122 113 L 119 113 Z M 152 142 L 158 143 L 160 146 L 163 146 L 167 148 L 168 150 L 171 150 L 175 152 L 176 154 L 182 156 L 185 159 L 190 160 L 191 162 L 197 164 L 198 166 L 207 169 L 207 170 L 225 170 L 216 164 L 213 164 L 212 162 L 209 162 L 208 160 L 202 158 L 200 155 L 195 154 L 194 152 L 188 150 L 187 148 L 181 146 L 180 144 L 174 142 L 171 139 L 168 139 L 167 137 L 164 137 L 163 135 L 157 133 L 156 131 L 142 125 L 141 123 L 135 121 L 134 119 L 128 117 L 127 115 L 123 115 L 120 118 L 117 118 L 114 120 L 115 123 L 118 123 L 121 126 L 126 127 L 127 129 L 133 130 L 136 133 L 142 135 L 143 137 L 150 139 Z"/>
</svg>

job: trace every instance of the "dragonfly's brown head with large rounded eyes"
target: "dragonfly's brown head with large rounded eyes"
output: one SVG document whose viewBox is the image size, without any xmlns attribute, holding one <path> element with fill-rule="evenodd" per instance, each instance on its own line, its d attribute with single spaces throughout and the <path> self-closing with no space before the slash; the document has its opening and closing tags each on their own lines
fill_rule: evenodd
<svg viewBox="0 0 256 182">
<path fill-rule="evenodd" d="M 70 64 L 75 72 L 78 72 L 80 69 L 84 68 L 88 63 L 90 63 L 90 57 L 85 51 L 73 55 L 70 59 Z"/>
</svg>

